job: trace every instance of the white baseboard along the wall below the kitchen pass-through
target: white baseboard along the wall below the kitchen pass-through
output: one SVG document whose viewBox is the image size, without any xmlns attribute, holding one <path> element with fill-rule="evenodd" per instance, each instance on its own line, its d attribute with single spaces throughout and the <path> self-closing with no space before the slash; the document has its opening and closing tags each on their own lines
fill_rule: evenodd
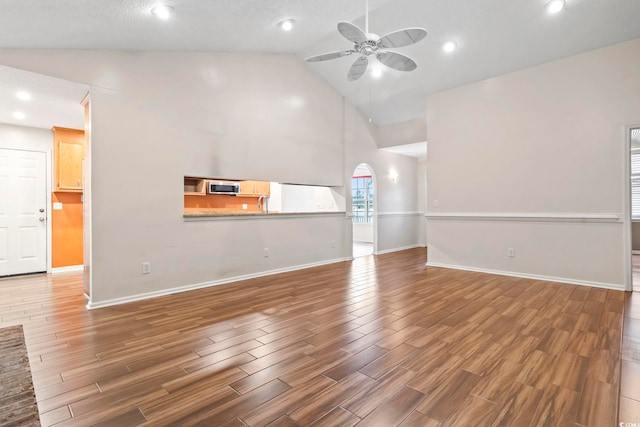
<svg viewBox="0 0 640 427">
<path fill-rule="evenodd" d="M 287 273 L 290 271 L 303 270 L 305 268 L 319 267 L 322 265 L 335 264 L 343 261 L 351 261 L 352 259 L 353 258 L 350 258 L 350 257 L 336 258 L 328 261 L 313 262 L 309 264 L 296 265 L 293 267 L 277 268 L 275 270 L 268 270 L 268 271 L 262 271 L 259 273 L 245 274 L 243 276 L 213 280 L 211 282 L 194 283 L 192 285 L 180 286 L 177 288 L 170 288 L 170 289 L 163 289 L 160 291 L 147 292 L 144 294 L 131 295 L 128 297 L 114 298 L 106 301 L 99 301 L 96 303 L 89 301 L 86 305 L 86 308 L 87 310 L 94 310 L 96 308 L 111 307 L 114 305 L 126 304 L 129 302 L 142 301 L 142 300 L 157 298 L 157 297 L 166 296 L 166 295 L 178 294 L 181 292 L 194 291 L 196 289 L 209 288 L 211 286 L 226 285 L 228 283 L 239 282 L 242 280 L 255 279 L 257 277 L 271 276 L 273 274 Z"/>
</svg>

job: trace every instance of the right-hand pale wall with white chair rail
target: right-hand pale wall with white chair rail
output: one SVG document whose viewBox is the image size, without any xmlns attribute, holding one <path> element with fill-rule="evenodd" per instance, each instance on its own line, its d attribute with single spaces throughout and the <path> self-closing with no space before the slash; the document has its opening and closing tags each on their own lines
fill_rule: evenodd
<svg viewBox="0 0 640 427">
<path fill-rule="evenodd" d="M 429 263 L 623 288 L 639 73 L 637 39 L 429 96 Z"/>
</svg>

